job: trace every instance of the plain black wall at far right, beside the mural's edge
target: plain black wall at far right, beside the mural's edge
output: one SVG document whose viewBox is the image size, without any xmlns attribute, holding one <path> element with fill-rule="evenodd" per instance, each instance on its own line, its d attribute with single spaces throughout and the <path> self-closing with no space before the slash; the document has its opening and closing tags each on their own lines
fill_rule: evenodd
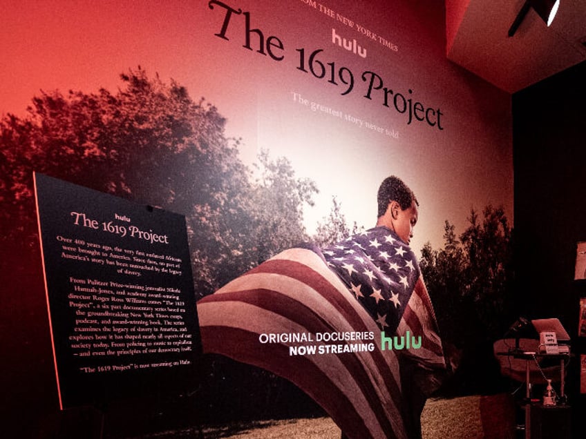
<svg viewBox="0 0 586 439">
<path fill-rule="evenodd" d="M 582 63 L 513 95 L 518 311 L 529 318 L 557 317 L 570 333 L 576 356 L 567 390 L 574 420 L 586 413 L 579 393 L 586 338 L 578 338 L 586 281 L 574 281 L 576 244 L 586 241 L 585 82 Z"/>
</svg>

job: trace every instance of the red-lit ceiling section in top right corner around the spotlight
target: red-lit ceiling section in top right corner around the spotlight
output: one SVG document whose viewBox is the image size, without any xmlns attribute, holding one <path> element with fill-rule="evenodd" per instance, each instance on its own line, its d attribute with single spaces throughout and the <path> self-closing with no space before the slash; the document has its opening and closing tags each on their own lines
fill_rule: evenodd
<svg viewBox="0 0 586 439">
<path fill-rule="evenodd" d="M 507 34 L 525 0 L 445 0 L 448 59 L 507 92 L 586 60 L 586 0 L 560 0 L 554 22 L 533 10 Z"/>
</svg>

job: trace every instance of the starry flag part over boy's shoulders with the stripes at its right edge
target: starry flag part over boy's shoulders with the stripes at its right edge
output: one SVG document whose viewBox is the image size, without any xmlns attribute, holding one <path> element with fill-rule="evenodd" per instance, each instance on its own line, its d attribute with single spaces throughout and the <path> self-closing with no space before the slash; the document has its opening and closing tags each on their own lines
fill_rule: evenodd
<svg viewBox="0 0 586 439">
<path fill-rule="evenodd" d="M 371 228 L 323 250 L 328 266 L 388 335 L 421 335 L 415 356 L 444 364 L 442 342 L 419 264 L 410 247 L 386 226 Z M 413 354 L 415 351 L 410 351 Z"/>
</svg>

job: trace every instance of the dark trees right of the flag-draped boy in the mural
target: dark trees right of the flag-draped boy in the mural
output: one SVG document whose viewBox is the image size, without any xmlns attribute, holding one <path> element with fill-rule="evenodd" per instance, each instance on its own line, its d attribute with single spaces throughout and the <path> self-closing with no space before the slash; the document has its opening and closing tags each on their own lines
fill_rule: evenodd
<svg viewBox="0 0 586 439">
<path fill-rule="evenodd" d="M 511 228 L 502 208 L 486 206 L 482 223 L 471 210 L 469 226 L 457 240 L 455 228 L 446 221 L 444 248 L 434 251 L 429 244 L 422 250 L 422 273 L 437 308 L 471 306 L 487 335 L 498 337 L 506 329 L 511 305 Z M 440 313 L 438 313 L 440 314 Z M 457 326 L 446 322 L 448 332 Z"/>
</svg>

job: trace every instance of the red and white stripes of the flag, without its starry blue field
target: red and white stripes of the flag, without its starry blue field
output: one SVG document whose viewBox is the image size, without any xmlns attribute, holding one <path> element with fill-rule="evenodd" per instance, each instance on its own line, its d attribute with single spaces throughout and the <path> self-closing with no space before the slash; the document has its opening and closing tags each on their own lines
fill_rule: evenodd
<svg viewBox="0 0 586 439">
<path fill-rule="evenodd" d="M 415 262 L 414 270 L 419 273 Z M 410 355 L 440 367 L 441 342 L 432 329 L 435 318 L 423 282 L 416 280 L 410 294 L 401 294 L 399 301 L 406 302 L 397 333 L 425 335 L 428 341 Z M 290 380 L 320 404 L 348 438 L 408 438 L 399 351 L 380 349 L 384 324 L 369 315 L 319 252 L 292 248 L 263 262 L 202 298 L 198 318 L 204 352 Z M 317 334 L 343 333 L 374 334 L 374 340 L 337 343 L 373 342 L 376 349 L 292 354 L 292 347 L 333 343 L 318 342 Z M 269 334 L 279 335 L 278 340 L 266 342 Z M 287 338 L 295 334 L 305 334 L 311 341 Z"/>
</svg>

